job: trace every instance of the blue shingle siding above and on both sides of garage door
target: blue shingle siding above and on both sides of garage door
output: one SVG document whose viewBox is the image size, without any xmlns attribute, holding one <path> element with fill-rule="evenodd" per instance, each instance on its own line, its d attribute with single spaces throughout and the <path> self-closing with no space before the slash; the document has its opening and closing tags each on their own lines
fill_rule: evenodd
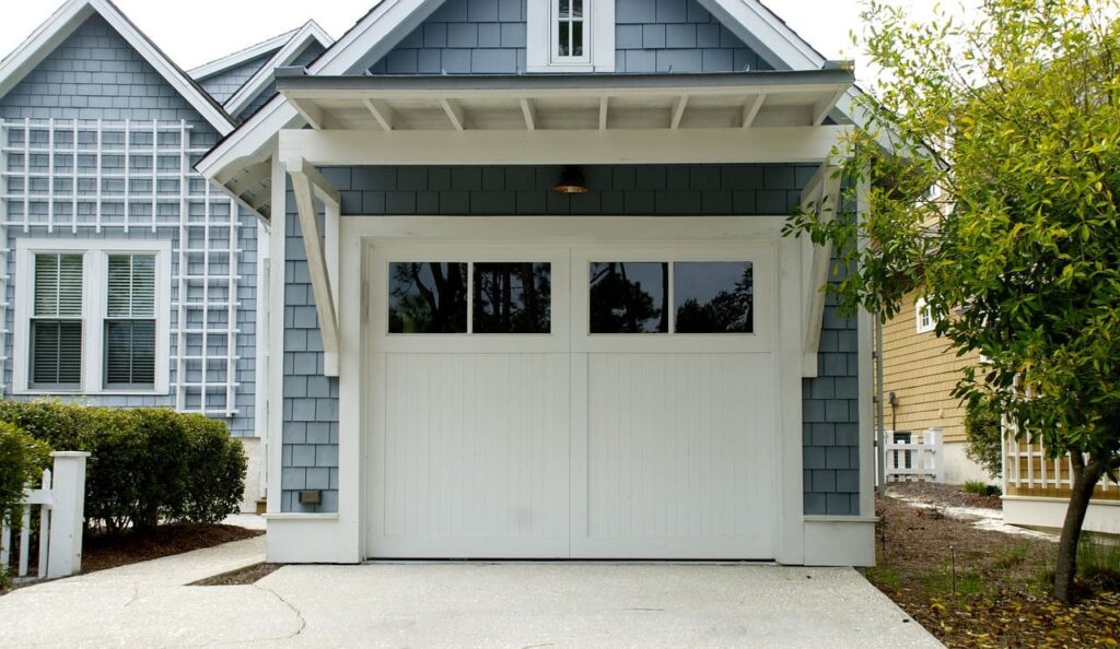
<svg viewBox="0 0 1120 649">
<path fill-rule="evenodd" d="M 814 167 L 681 164 L 585 167 L 590 189 L 552 191 L 561 167 L 357 167 L 324 175 L 346 215 L 570 216 L 782 215 L 797 205 Z M 300 510 L 295 491 L 310 488 L 314 465 L 329 469 L 337 502 L 337 382 L 321 376 L 321 340 L 289 195 L 284 299 L 283 510 Z M 830 302 L 822 335 L 821 378 L 805 379 L 805 512 L 859 514 L 855 323 Z M 824 367 L 827 365 L 827 367 Z M 312 429 L 314 426 L 314 429 Z M 314 434 L 312 434 L 314 430 Z M 325 441 L 326 440 L 326 441 Z M 314 451 L 314 464 L 310 464 Z M 812 482 L 813 478 L 818 482 Z"/>
</svg>

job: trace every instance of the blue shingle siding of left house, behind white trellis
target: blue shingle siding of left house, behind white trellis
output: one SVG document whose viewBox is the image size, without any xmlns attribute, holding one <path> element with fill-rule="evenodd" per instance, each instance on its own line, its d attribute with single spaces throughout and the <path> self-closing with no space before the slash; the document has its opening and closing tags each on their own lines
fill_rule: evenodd
<svg viewBox="0 0 1120 649">
<path fill-rule="evenodd" d="M 186 122 L 190 129 L 189 145 L 198 151 L 204 151 L 209 147 L 213 147 L 218 140 L 218 133 L 208 124 L 192 106 L 183 98 L 178 92 L 170 86 L 162 76 L 159 75 L 144 59 L 143 57 L 133 50 L 131 46 L 113 30 L 113 28 L 104 21 L 100 16 L 93 16 L 86 20 L 73 35 L 71 35 L 66 40 L 64 40 L 52 54 L 49 54 L 30 74 L 27 75 L 15 88 L 12 88 L 6 96 L 0 97 L 0 119 L 16 121 L 19 124 L 24 123 L 24 120 L 32 120 L 32 124 L 38 124 L 35 126 L 45 133 L 44 120 L 57 120 L 59 125 L 65 124 L 69 126 L 73 124 L 71 120 L 80 120 L 86 128 L 91 128 L 90 124 L 96 123 L 97 120 L 102 120 L 106 126 L 119 126 L 124 120 L 130 120 L 136 125 L 137 123 L 146 122 L 148 128 L 151 128 L 153 121 L 160 121 L 165 123 L 171 123 L 176 125 L 176 131 L 180 122 Z M 8 138 L 22 138 L 22 128 L 17 128 L 7 132 Z M 32 133 L 34 133 L 32 129 Z M 118 135 L 120 133 L 118 132 Z M 147 138 L 151 134 L 146 133 Z M 166 137 L 172 138 L 175 140 L 175 145 L 178 142 L 178 132 L 168 133 Z M 44 140 L 39 143 L 36 139 L 37 135 L 32 134 L 32 141 L 36 145 L 46 145 L 47 141 Z M 11 143 L 11 142 L 9 142 Z M 136 140 L 133 140 L 136 143 Z M 88 143 L 83 144 L 83 147 L 90 145 Z M 110 137 L 106 135 L 103 149 L 109 148 L 121 148 L 121 143 L 113 143 L 110 141 Z M 57 142 L 56 147 L 66 148 L 66 142 Z M 133 149 L 134 154 L 131 158 L 131 164 L 133 169 L 140 170 L 151 170 L 152 161 L 150 154 L 144 158 L 137 149 Z M 114 154 L 106 153 L 103 156 L 102 169 L 112 168 L 111 162 L 109 162 Z M 20 164 L 17 164 L 17 158 L 20 158 L 21 153 L 8 152 L 8 167 L 15 169 Z M 116 169 L 119 173 L 122 171 L 123 156 L 115 156 L 119 160 L 120 168 Z M 32 157 L 35 158 L 35 157 Z M 30 170 L 32 172 L 45 172 L 47 170 L 48 163 L 46 162 L 47 156 L 41 156 L 35 158 L 30 163 Z M 92 172 L 96 169 L 96 156 L 82 156 L 78 161 L 78 170 L 83 172 Z M 55 156 L 55 172 L 56 172 L 56 191 L 57 192 L 68 192 L 71 180 L 67 177 L 68 169 L 67 164 L 72 164 L 67 160 L 72 160 L 71 156 L 67 154 L 56 154 Z M 162 158 L 160 159 L 160 164 L 167 162 Z M 193 160 L 192 160 L 193 163 Z M 174 163 L 169 168 L 170 170 L 177 171 L 179 169 L 179 158 L 175 157 Z M 32 238 L 55 238 L 55 239 L 97 239 L 97 238 L 128 238 L 128 239 L 160 239 L 169 241 L 171 243 L 171 262 L 172 262 L 172 279 L 171 279 L 171 313 L 166 314 L 169 319 L 170 326 L 172 328 L 171 335 L 171 350 L 172 363 L 170 368 L 170 379 L 172 394 L 171 395 L 158 395 L 158 396 L 97 396 L 87 399 L 90 403 L 109 405 L 109 406 L 174 406 L 176 405 L 176 397 L 174 394 L 174 388 L 180 379 L 198 380 L 203 376 L 204 368 L 188 366 L 185 374 L 188 376 L 179 377 L 177 376 L 177 366 L 174 361 L 174 357 L 179 354 L 177 349 L 177 336 L 175 333 L 175 328 L 180 323 L 178 322 L 178 301 L 180 295 L 178 294 L 178 282 L 175 278 L 178 276 L 180 269 L 179 264 L 179 247 L 184 244 L 180 241 L 180 215 L 179 201 L 178 200 L 160 200 L 157 206 L 158 216 L 158 227 L 156 232 L 152 232 L 150 227 L 151 213 L 152 213 L 152 198 L 151 198 L 151 180 L 138 178 L 133 180 L 130 189 L 132 197 L 130 198 L 129 208 L 130 214 L 136 217 L 137 220 L 142 220 L 149 224 L 144 227 L 140 227 L 133 222 L 133 226 L 124 231 L 122 227 L 123 218 L 123 203 L 120 200 L 111 201 L 103 200 L 101 204 L 102 211 L 102 228 L 99 233 L 95 227 L 95 205 L 96 205 L 96 187 L 94 182 L 85 184 L 80 181 L 78 184 L 78 199 L 76 201 L 78 210 L 76 215 L 71 216 L 72 210 L 71 205 L 63 205 L 56 203 L 55 214 L 56 216 L 65 215 L 69 219 L 65 226 L 56 226 L 53 232 L 45 225 L 35 225 L 36 220 L 40 223 L 45 220 L 41 218 L 43 215 L 47 214 L 47 201 L 43 198 L 35 196 L 39 192 L 39 188 L 36 182 L 46 182 L 46 179 L 32 180 L 31 187 L 25 187 L 24 180 L 20 176 L 11 176 L 8 178 L 7 186 L 3 190 L 7 194 L 13 195 L 13 199 L 8 200 L 3 204 L 2 209 L 0 209 L 0 215 L 3 215 L 6 220 L 11 225 L 3 228 L 7 233 L 4 238 L 4 244 L 7 246 L 7 274 L 9 278 L 8 293 L 13 294 L 13 286 L 17 281 L 25 281 L 17 276 L 16 260 L 11 251 L 15 250 L 16 239 L 21 237 L 32 237 Z M 162 185 L 165 180 L 160 181 Z M 162 195 L 165 190 L 168 194 L 174 194 L 176 197 L 179 195 L 178 179 L 167 180 L 169 182 L 167 187 L 157 187 L 157 194 Z M 205 181 L 194 175 L 189 175 L 190 194 L 197 194 L 203 191 L 205 187 Z M 59 185 L 60 184 L 60 185 Z M 123 180 L 121 179 L 103 179 L 104 191 L 106 194 L 121 194 L 123 192 Z M 174 186 L 174 187 L 172 187 Z M 31 225 L 26 228 L 21 227 L 24 203 L 19 198 L 25 191 L 30 190 L 32 198 L 28 200 L 28 216 Z M 186 245 L 190 250 L 204 248 L 207 238 L 209 248 L 205 255 L 203 254 L 190 254 L 188 255 L 188 266 L 196 266 L 197 264 L 211 264 L 211 269 L 216 273 L 224 273 L 228 270 L 230 264 L 236 264 L 236 271 L 240 274 L 240 280 L 236 282 L 236 295 L 234 295 L 237 305 L 234 310 L 233 318 L 235 322 L 228 322 L 230 313 L 228 308 L 215 307 L 209 310 L 211 321 L 209 322 L 194 322 L 192 320 L 195 318 L 196 313 L 203 313 L 203 310 L 188 310 L 189 324 L 197 324 L 198 327 L 204 327 L 207 330 L 226 330 L 230 327 L 235 328 L 236 333 L 234 336 L 233 345 L 235 347 L 234 351 L 234 363 L 233 367 L 223 366 L 224 364 L 211 363 L 208 368 L 205 368 L 207 380 L 222 382 L 223 389 L 222 394 L 215 394 L 212 396 L 212 405 L 221 402 L 222 407 L 225 407 L 226 395 L 224 391 L 224 383 L 226 378 L 230 377 L 231 373 L 234 375 L 233 378 L 237 383 L 233 401 L 234 406 L 237 410 L 237 415 L 232 418 L 224 418 L 233 434 L 235 435 L 252 435 L 254 433 L 254 393 L 255 393 L 255 357 L 256 357 L 256 342 L 255 342 L 255 327 L 256 327 L 256 232 L 258 232 L 258 220 L 255 216 L 237 211 L 232 219 L 228 219 L 228 199 L 224 198 L 223 195 L 216 190 L 212 192 L 212 219 L 213 226 L 209 228 L 208 237 L 205 236 L 205 228 L 202 226 L 206 223 L 203 218 L 205 215 L 204 206 L 198 201 L 189 203 L 189 218 L 190 223 L 186 229 L 188 241 Z M 224 220 L 225 223 L 220 223 Z M 232 223 L 231 223 L 232 222 Z M 231 228 L 232 225 L 232 228 Z M 75 232 L 76 229 L 76 232 Z M 232 229 L 232 232 L 231 232 Z M 235 245 L 233 246 L 235 252 L 235 258 L 230 258 L 231 243 L 230 237 L 234 236 Z M 197 272 L 197 269 L 190 270 L 189 272 Z M 189 290 L 189 288 L 188 288 Z M 227 290 L 227 285 L 226 285 Z M 193 300 L 192 300 L 193 301 Z M 218 289 L 211 294 L 211 302 L 216 304 L 217 301 L 225 301 L 225 297 L 222 294 L 222 290 Z M 15 304 L 9 305 L 4 309 L 6 321 L 4 331 L 13 331 L 15 326 Z M 19 350 L 17 354 L 12 349 L 12 336 L 10 333 L 2 337 L 4 356 L 9 361 L 3 363 L 3 374 L 0 379 L 2 379 L 4 394 L 10 394 L 10 386 L 12 385 L 12 364 L 13 363 L 26 363 L 27 361 L 27 350 Z M 190 356 L 202 355 L 202 342 L 200 336 L 188 336 L 186 339 L 186 349 L 183 350 Z M 211 350 L 212 358 L 216 357 L 218 354 L 223 357 L 227 357 L 225 346 L 227 342 L 226 336 L 209 336 L 209 344 L 207 348 Z M 187 410 L 194 410 L 200 402 L 200 395 L 198 397 L 190 397 L 187 399 Z"/>
</svg>

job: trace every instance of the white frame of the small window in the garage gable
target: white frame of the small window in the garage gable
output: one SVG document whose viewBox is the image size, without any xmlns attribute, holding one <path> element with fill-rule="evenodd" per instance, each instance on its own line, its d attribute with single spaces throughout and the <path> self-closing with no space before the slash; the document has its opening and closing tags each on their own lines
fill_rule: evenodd
<svg viewBox="0 0 1120 649">
<path fill-rule="evenodd" d="M 584 0 L 582 56 L 559 56 L 559 6 L 560 0 L 526 6 L 526 72 L 615 72 L 615 0 Z"/>
</svg>

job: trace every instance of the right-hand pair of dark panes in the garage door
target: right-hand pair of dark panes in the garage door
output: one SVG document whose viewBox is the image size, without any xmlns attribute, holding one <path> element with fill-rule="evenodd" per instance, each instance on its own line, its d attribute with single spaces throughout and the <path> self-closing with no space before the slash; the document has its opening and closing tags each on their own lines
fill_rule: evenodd
<svg viewBox="0 0 1120 649">
<path fill-rule="evenodd" d="M 589 295 L 591 333 L 754 332 L 750 262 L 592 262 Z"/>
</svg>

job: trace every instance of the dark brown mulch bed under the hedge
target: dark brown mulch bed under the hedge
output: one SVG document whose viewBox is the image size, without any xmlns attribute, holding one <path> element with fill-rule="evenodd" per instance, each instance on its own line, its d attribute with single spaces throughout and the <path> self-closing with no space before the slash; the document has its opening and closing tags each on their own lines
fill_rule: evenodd
<svg viewBox="0 0 1120 649">
<path fill-rule="evenodd" d="M 244 540 L 264 534 L 233 525 L 164 525 L 152 530 L 129 530 L 113 536 L 86 532 L 82 539 L 82 573 L 120 567 L 195 549 Z M 35 574 L 37 554 L 31 555 Z M 15 557 L 12 558 L 15 562 Z M 15 566 L 13 566 L 15 567 Z M 13 572 L 13 571 L 12 571 Z M 10 573 L 9 573 L 10 574 Z M 24 585 L 34 585 L 35 582 Z M 0 590 L 0 595 L 8 591 Z"/>
</svg>

